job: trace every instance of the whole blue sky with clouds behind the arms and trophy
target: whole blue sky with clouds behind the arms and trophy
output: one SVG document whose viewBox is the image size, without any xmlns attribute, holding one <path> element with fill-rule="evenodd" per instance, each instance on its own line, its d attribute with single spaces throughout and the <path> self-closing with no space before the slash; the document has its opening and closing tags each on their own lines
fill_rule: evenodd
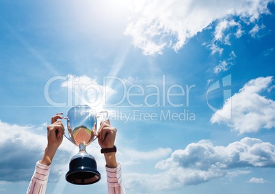
<svg viewBox="0 0 275 194">
<path fill-rule="evenodd" d="M 127 193 L 272 193 L 274 1 L 1 1 L 0 193 L 25 193 L 51 116 L 109 111 Z M 65 122 L 64 122 L 65 124 Z M 47 193 L 66 182 L 64 139 Z M 16 186 L 14 186 L 16 185 Z"/>
</svg>

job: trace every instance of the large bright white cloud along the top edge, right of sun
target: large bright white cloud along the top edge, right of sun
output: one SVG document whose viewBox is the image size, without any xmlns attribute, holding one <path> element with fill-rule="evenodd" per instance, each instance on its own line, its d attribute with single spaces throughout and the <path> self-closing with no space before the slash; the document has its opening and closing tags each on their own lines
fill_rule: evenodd
<svg viewBox="0 0 275 194">
<path fill-rule="evenodd" d="M 268 14 L 267 4 L 272 0 L 192 1 L 153 0 L 129 3 L 137 16 L 131 18 L 125 35 L 133 38 L 133 44 L 144 55 L 161 54 L 163 48 L 179 49 L 192 37 L 215 20 L 221 20 L 215 38 L 222 39 L 224 29 L 238 26 L 235 35 L 243 31 L 239 23 L 227 20 L 239 16 L 246 23 L 254 23 L 261 14 Z M 220 30 L 219 30 L 220 29 Z"/>
</svg>

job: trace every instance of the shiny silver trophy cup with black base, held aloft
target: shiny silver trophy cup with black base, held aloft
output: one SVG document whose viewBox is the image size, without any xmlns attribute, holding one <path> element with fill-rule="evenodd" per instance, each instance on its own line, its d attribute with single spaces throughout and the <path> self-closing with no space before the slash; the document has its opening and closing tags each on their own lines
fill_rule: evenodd
<svg viewBox="0 0 275 194">
<path fill-rule="evenodd" d="M 103 113 L 107 118 L 107 111 L 96 113 L 88 105 L 77 105 L 64 117 L 67 120 L 67 131 L 64 136 L 79 147 L 79 153 L 71 158 L 66 174 L 66 180 L 72 184 L 93 184 L 101 179 L 101 174 L 96 169 L 96 161 L 86 152 L 86 146 L 96 139 L 97 118 Z"/>
</svg>

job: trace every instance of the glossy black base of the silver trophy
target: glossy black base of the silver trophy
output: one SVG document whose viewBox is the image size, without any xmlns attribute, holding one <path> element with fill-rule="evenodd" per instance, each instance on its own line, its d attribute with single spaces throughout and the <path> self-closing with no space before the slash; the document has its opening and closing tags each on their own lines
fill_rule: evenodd
<svg viewBox="0 0 275 194">
<path fill-rule="evenodd" d="M 101 174 L 96 170 L 96 161 L 88 157 L 79 157 L 70 161 L 66 180 L 72 184 L 93 184 L 101 180 Z"/>
</svg>

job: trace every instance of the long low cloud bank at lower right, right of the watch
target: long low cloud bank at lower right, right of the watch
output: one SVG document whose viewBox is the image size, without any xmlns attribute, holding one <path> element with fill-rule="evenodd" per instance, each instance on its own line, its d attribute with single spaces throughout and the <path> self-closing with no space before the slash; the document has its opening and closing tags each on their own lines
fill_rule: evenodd
<svg viewBox="0 0 275 194">
<path fill-rule="evenodd" d="M 214 178 L 249 174 L 248 167 L 274 166 L 275 146 L 260 139 L 246 137 L 226 147 L 202 140 L 190 143 L 185 150 L 176 150 L 170 158 L 159 161 L 155 167 L 163 171 L 158 174 L 125 174 L 124 177 L 128 190 L 157 193 Z"/>
</svg>

